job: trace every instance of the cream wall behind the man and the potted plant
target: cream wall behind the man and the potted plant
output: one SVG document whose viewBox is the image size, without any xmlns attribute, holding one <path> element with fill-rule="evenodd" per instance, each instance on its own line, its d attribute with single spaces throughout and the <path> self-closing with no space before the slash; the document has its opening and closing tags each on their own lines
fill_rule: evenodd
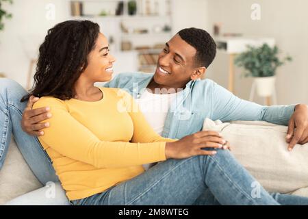
<svg viewBox="0 0 308 219">
<path fill-rule="evenodd" d="M 307 0 L 207 0 L 209 25 L 222 23 L 222 32 L 237 32 L 248 36 L 269 36 L 289 53 L 294 61 L 282 66 L 277 75 L 279 105 L 308 104 L 308 1 Z M 261 21 L 251 20 L 251 5 L 261 5 Z M 229 69 L 227 55 L 218 53 L 207 75 L 227 88 Z M 248 99 L 251 78 L 240 79 L 236 70 L 235 92 Z M 255 99 L 263 104 L 262 99 Z"/>
</svg>

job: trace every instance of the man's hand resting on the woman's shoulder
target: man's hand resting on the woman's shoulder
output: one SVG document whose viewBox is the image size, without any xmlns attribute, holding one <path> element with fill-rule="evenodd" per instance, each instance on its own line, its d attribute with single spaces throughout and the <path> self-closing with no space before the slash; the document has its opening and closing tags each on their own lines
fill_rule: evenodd
<svg viewBox="0 0 308 219">
<path fill-rule="evenodd" d="M 30 136 L 43 136 L 44 131 L 42 129 L 49 127 L 49 123 L 40 123 L 47 118 L 51 118 L 51 113 L 49 107 L 41 107 L 32 110 L 32 107 L 38 97 L 30 96 L 27 103 L 27 107 L 23 112 L 23 117 L 21 118 L 21 128 Z"/>
</svg>

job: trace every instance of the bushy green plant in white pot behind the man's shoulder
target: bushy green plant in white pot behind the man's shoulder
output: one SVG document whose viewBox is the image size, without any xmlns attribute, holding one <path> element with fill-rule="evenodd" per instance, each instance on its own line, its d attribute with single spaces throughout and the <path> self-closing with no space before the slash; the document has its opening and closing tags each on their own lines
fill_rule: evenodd
<svg viewBox="0 0 308 219">
<path fill-rule="evenodd" d="M 268 44 L 263 44 L 261 47 L 248 46 L 247 51 L 235 57 L 235 65 L 245 70 L 244 77 L 255 78 L 259 96 L 272 95 L 277 68 L 292 61 L 292 57 L 288 55 L 280 59 L 279 53 L 277 46 L 270 47 Z"/>
</svg>

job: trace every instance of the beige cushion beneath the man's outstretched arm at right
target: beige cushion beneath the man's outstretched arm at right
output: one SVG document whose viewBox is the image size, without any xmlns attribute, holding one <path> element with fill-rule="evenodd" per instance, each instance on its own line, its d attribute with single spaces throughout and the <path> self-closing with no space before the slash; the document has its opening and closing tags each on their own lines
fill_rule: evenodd
<svg viewBox="0 0 308 219">
<path fill-rule="evenodd" d="M 229 140 L 231 153 L 270 192 L 295 192 L 308 196 L 308 144 L 296 144 L 287 151 L 287 126 L 264 121 L 205 119 L 204 130 L 222 133 Z"/>
</svg>

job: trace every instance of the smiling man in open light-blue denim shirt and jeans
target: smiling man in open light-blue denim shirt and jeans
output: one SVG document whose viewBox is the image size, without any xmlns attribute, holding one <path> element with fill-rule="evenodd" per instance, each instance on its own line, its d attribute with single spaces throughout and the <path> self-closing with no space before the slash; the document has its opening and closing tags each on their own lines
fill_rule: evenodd
<svg viewBox="0 0 308 219">
<path fill-rule="evenodd" d="M 154 74 L 123 73 L 105 86 L 127 90 L 138 101 L 153 129 L 166 138 L 179 139 L 200 131 L 204 119 L 211 118 L 222 122 L 265 120 L 289 125 L 289 149 L 296 143 L 308 142 L 306 105 L 262 106 L 239 99 L 210 79 L 200 80 L 215 55 L 216 44 L 206 31 L 183 29 L 166 43 L 159 54 Z M 0 166 L 8 149 L 12 130 L 21 153 L 36 177 L 43 184 L 57 181 L 49 157 L 37 138 L 31 137 L 44 134 L 43 129 L 48 128 L 49 124 L 40 122 L 52 115 L 46 108 L 31 110 L 36 101 L 34 97 L 31 97 L 27 106 L 20 103 L 19 100 L 26 91 L 14 81 L 3 79 L 0 83 L 0 120 L 1 123 L 4 122 L 4 129 L 0 130 L 3 133 Z M 153 112 L 153 109 L 159 110 Z M 31 136 L 23 133 L 20 122 L 23 130 Z M 206 192 L 202 199 L 203 204 L 210 203 L 213 196 Z"/>
</svg>

